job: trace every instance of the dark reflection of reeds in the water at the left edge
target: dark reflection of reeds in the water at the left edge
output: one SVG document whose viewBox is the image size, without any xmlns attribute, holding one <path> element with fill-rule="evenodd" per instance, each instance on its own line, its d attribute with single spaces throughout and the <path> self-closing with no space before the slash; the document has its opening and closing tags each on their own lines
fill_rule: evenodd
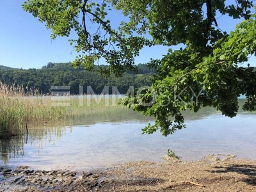
<svg viewBox="0 0 256 192">
<path fill-rule="evenodd" d="M 26 137 L 23 136 L 13 136 L 9 140 L 0 140 L 1 161 L 6 165 L 9 163 L 9 159 L 24 157 L 24 143 L 26 143 Z"/>
</svg>

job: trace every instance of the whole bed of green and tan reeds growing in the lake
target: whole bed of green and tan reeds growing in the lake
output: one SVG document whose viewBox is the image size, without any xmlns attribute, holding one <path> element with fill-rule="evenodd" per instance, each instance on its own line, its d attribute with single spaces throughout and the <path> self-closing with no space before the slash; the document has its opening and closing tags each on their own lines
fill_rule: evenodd
<svg viewBox="0 0 256 192">
<path fill-rule="evenodd" d="M 118 113 L 125 109 L 118 97 L 40 95 L 36 88 L 6 86 L 0 83 L 0 138 L 24 134 L 26 123 L 60 125 L 72 122 L 74 116 Z"/>
</svg>

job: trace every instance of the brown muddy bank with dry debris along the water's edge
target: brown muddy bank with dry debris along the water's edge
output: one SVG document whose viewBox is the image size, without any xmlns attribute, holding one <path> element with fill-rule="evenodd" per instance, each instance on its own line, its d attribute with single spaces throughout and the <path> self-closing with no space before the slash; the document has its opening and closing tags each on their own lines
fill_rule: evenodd
<svg viewBox="0 0 256 192">
<path fill-rule="evenodd" d="M 256 191 L 256 161 L 210 155 L 193 162 L 170 158 L 166 163 L 115 164 L 91 172 L 0 167 L 0 191 Z"/>
</svg>

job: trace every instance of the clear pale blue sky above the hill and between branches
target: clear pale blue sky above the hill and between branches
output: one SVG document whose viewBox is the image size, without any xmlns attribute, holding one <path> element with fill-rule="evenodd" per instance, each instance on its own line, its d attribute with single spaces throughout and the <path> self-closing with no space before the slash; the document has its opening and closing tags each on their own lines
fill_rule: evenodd
<svg viewBox="0 0 256 192">
<path fill-rule="evenodd" d="M 48 62 L 68 62 L 76 58 L 68 38 L 51 40 L 47 30 L 31 13 L 22 10 L 24 0 L 1 0 L 0 6 L 0 65 L 15 68 L 41 68 Z M 120 15 L 111 15 L 119 18 Z M 121 17 L 122 18 L 122 17 Z M 112 22 L 115 22 L 115 19 Z M 217 20 L 221 29 L 233 30 L 239 20 Z M 141 51 L 136 63 L 147 63 L 150 58 L 161 58 L 167 47 L 150 47 Z M 250 60 L 255 63 L 255 57 Z M 102 63 L 104 64 L 104 63 Z"/>
</svg>

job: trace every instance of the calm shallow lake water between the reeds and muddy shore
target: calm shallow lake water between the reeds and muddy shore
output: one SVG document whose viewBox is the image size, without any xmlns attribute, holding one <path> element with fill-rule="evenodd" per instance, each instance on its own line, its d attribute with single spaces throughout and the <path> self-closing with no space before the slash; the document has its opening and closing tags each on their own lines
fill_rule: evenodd
<svg viewBox="0 0 256 192">
<path fill-rule="evenodd" d="M 212 108 L 186 111 L 186 129 L 168 137 L 141 134 L 154 120 L 134 111 L 77 117 L 72 127 L 37 127 L 26 138 L 1 141 L 1 165 L 33 169 L 91 169 L 127 161 L 163 161 L 170 148 L 186 161 L 207 154 L 234 154 L 256 159 L 256 113 L 235 118 Z"/>
</svg>

